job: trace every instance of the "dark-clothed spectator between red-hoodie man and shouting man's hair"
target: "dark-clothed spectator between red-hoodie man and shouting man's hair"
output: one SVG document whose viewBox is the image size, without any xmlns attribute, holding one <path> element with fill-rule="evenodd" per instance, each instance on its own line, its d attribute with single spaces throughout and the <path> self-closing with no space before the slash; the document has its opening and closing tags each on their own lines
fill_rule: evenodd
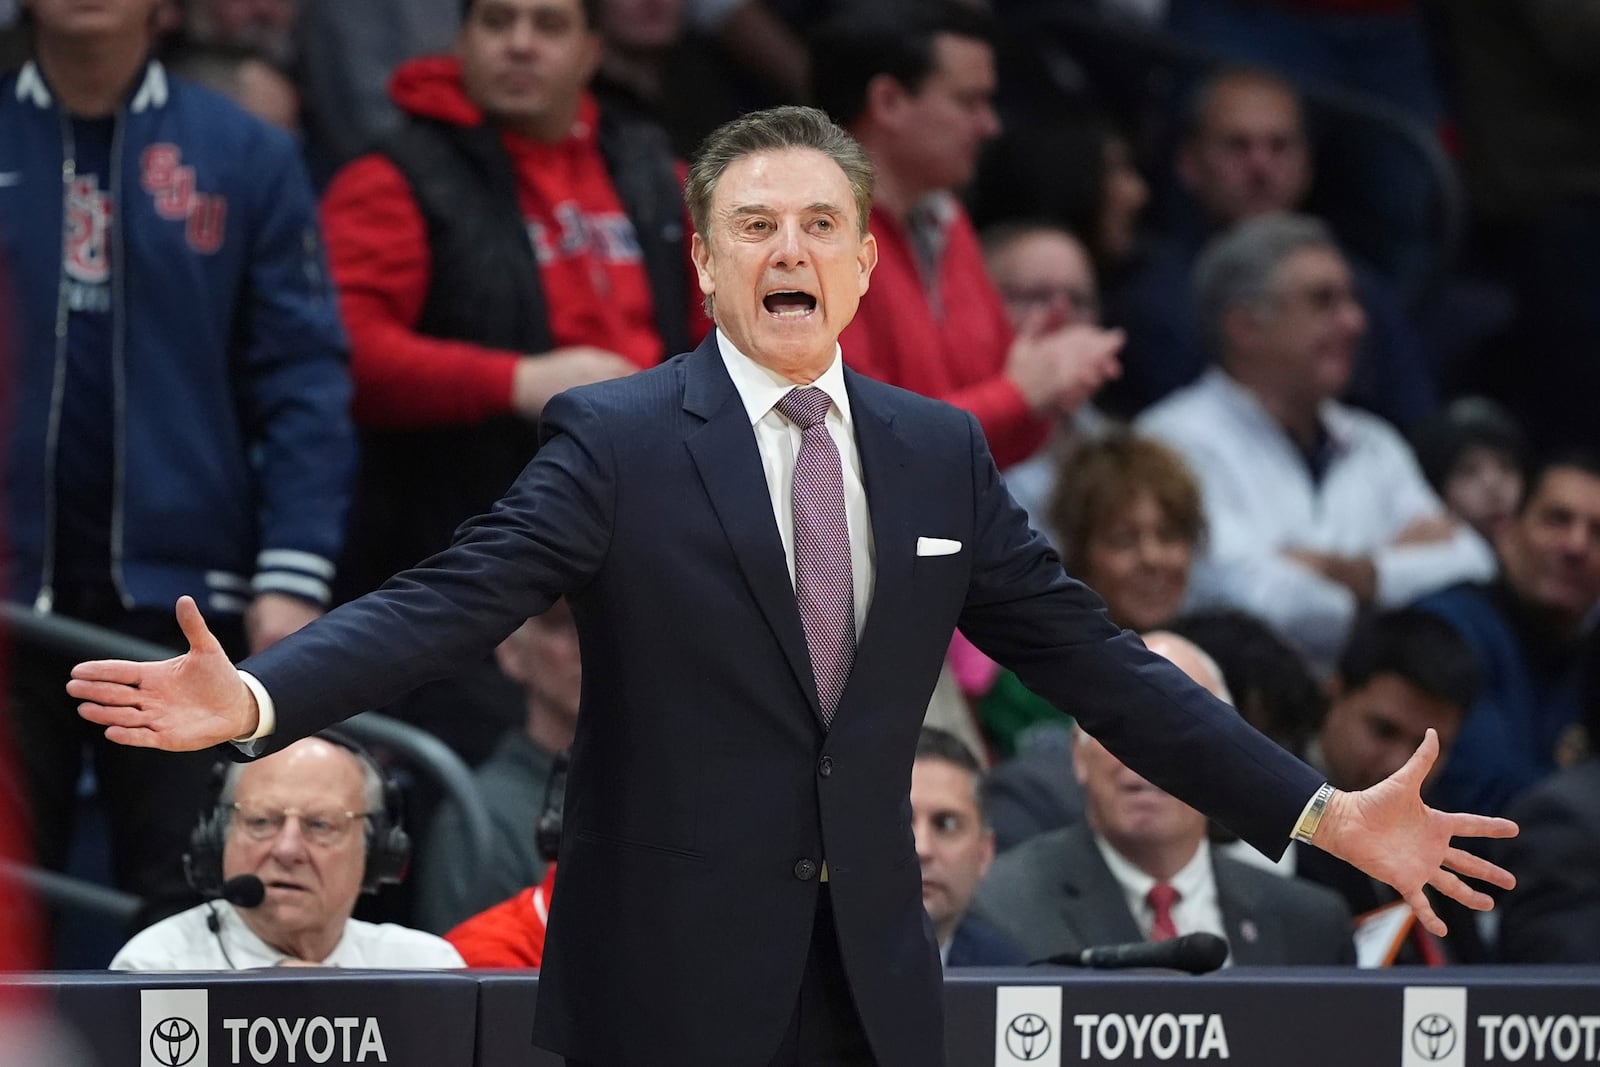
<svg viewBox="0 0 1600 1067">
<path fill-rule="evenodd" d="M 662 126 L 683 158 L 712 130 L 739 114 L 710 43 L 688 29 L 688 0 L 600 0 L 600 70 L 595 96 L 605 110 Z"/>
</svg>

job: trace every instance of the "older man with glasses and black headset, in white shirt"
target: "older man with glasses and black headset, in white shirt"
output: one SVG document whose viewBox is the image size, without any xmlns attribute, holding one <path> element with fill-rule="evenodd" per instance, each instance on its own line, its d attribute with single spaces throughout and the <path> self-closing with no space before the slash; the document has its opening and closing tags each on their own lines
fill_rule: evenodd
<svg viewBox="0 0 1600 1067">
<path fill-rule="evenodd" d="M 184 857 L 208 899 L 136 934 L 112 969 L 464 966 L 440 937 L 350 918 L 357 896 L 400 881 L 411 848 L 398 792 L 358 745 L 315 734 L 219 765 L 218 782 Z"/>
</svg>

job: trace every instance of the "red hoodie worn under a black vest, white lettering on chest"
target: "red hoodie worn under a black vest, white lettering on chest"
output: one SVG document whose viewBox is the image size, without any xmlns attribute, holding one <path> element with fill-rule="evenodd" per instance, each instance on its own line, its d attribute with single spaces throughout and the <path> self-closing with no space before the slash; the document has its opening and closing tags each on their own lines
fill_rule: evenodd
<svg viewBox="0 0 1600 1067">
<path fill-rule="evenodd" d="M 466 96 L 459 64 L 448 56 L 402 64 L 389 91 L 411 115 L 462 126 L 483 122 Z M 597 120 L 598 107 L 586 94 L 571 133 L 558 144 L 509 130 L 501 142 L 517 171 L 555 344 L 595 346 L 651 366 L 669 354 L 654 326 L 632 226 L 600 155 Z M 365 155 L 341 170 L 323 197 L 322 224 L 350 334 L 357 421 L 446 426 L 512 410 L 512 371 L 531 354 L 488 350 L 414 330 L 430 278 L 427 224 L 389 158 Z M 685 293 L 685 299 L 694 306 L 698 293 Z"/>
</svg>

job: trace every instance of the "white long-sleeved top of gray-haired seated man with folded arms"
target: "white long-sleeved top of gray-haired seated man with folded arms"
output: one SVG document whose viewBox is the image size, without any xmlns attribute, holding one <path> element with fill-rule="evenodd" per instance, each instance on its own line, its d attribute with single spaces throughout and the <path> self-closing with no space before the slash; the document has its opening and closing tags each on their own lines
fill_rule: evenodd
<svg viewBox="0 0 1600 1067">
<path fill-rule="evenodd" d="M 1374 414 L 1326 402 L 1328 466 L 1314 482 L 1306 458 L 1253 392 L 1213 368 L 1138 419 L 1187 461 L 1205 506 L 1206 539 L 1190 582 L 1192 606 L 1261 616 L 1331 667 L 1355 619 L 1355 597 L 1288 549 L 1370 557 L 1378 606 L 1482 581 L 1494 553 L 1464 523 L 1427 544 L 1394 544 L 1421 518 L 1445 518 L 1411 448 Z"/>
</svg>

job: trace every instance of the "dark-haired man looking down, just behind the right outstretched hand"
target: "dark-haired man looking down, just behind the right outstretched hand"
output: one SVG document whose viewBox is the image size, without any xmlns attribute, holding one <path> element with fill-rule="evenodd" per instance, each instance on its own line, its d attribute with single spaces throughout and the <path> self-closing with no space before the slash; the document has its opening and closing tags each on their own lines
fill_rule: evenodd
<svg viewBox="0 0 1600 1067">
<path fill-rule="evenodd" d="M 1384 781 L 1411 758 L 1432 729 L 1438 761 L 1429 782 L 1450 765 L 1461 720 L 1480 691 L 1478 665 L 1456 630 L 1435 614 L 1405 608 L 1363 619 L 1350 635 L 1339 669 L 1328 680 L 1328 717 L 1309 761 L 1334 789 L 1360 790 Z M 1424 784 L 1427 797 L 1427 784 Z M 1320 848 L 1294 845 L 1294 872 L 1344 897 L 1352 915 L 1366 915 L 1400 896 Z M 1517 872 L 1522 878 L 1522 872 Z M 1485 949 L 1472 912 L 1430 894 L 1450 925 L 1440 941 L 1414 923 L 1392 963 L 1478 963 Z"/>
</svg>

